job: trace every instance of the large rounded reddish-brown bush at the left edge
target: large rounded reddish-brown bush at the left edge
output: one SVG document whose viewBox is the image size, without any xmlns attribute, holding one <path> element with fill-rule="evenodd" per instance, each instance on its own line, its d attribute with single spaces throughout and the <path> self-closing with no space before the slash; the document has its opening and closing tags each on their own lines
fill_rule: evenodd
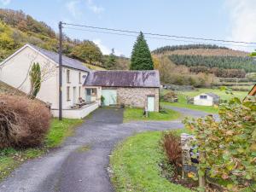
<svg viewBox="0 0 256 192">
<path fill-rule="evenodd" d="M 24 96 L 0 95 L 0 148 L 40 145 L 49 130 L 50 113 L 43 103 Z"/>
</svg>

